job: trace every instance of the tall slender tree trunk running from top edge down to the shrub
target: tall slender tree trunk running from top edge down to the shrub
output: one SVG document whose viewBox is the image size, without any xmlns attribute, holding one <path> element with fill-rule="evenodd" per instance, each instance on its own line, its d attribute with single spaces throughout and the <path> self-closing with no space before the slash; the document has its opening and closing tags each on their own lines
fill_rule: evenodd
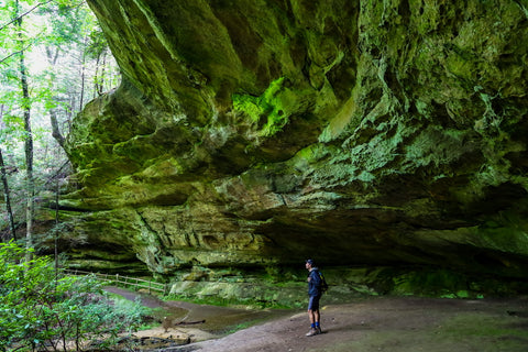
<svg viewBox="0 0 528 352">
<path fill-rule="evenodd" d="M 15 2 L 15 11 L 19 13 L 20 6 L 19 1 Z M 22 45 L 22 16 L 18 18 L 16 25 L 19 28 L 19 40 Z M 33 213 L 34 213 L 34 199 L 35 199 L 35 180 L 33 178 L 33 135 L 31 131 L 31 100 L 30 100 L 30 89 L 28 86 L 28 70 L 25 67 L 25 52 L 20 52 L 20 62 L 19 62 L 19 74 L 20 74 L 20 85 L 22 87 L 22 110 L 24 112 L 24 131 L 25 131 L 25 167 L 28 175 L 28 185 L 26 185 L 26 209 L 25 209 L 25 239 L 26 248 L 33 248 Z M 26 261 L 32 258 L 31 252 L 26 252 Z"/>
</svg>

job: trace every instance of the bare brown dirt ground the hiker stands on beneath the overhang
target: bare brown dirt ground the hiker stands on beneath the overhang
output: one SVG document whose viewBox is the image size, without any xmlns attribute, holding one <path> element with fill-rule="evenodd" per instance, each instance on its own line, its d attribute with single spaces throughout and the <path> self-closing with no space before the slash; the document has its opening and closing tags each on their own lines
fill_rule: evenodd
<svg viewBox="0 0 528 352">
<path fill-rule="evenodd" d="M 324 305 L 323 300 L 321 302 Z M 228 326 L 255 321 L 252 318 L 258 316 L 256 312 L 244 316 L 243 310 L 232 308 L 167 304 L 188 309 L 188 317 L 193 319 L 216 319 L 217 322 L 224 321 Z M 227 336 L 226 330 L 218 330 L 219 326 L 215 327 L 213 323 L 210 327 L 217 330 L 210 330 L 210 327 L 205 324 L 190 332 L 194 334 L 190 341 L 197 342 L 157 351 L 528 351 L 526 297 L 482 300 L 415 297 L 356 299 L 346 305 L 323 306 L 321 326 L 324 333 L 310 338 L 305 337 L 309 330 L 306 312 L 274 314 L 275 318 L 265 311 L 258 319 L 268 320 L 267 322 Z M 222 317 L 226 320 L 222 320 Z M 237 322 L 238 319 L 240 322 Z"/>
</svg>

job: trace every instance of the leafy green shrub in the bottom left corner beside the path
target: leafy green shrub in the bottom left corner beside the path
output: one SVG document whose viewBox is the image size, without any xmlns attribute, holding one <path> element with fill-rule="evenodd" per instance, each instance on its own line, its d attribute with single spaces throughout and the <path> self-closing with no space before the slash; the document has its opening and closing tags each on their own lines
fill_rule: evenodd
<svg viewBox="0 0 528 352">
<path fill-rule="evenodd" d="M 96 339 L 108 348 L 140 327 L 139 302 L 113 305 L 95 277 L 56 276 L 48 257 L 24 255 L 0 243 L 0 351 L 78 351 Z"/>
</svg>

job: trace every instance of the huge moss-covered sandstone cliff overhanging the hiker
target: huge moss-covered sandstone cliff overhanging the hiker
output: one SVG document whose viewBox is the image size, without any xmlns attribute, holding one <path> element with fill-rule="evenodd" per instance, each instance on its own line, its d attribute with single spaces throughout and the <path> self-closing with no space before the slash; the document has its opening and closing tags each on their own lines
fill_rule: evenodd
<svg viewBox="0 0 528 352">
<path fill-rule="evenodd" d="M 68 138 L 95 257 L 526 277 L 525 1 L 88 2 L 123 73 Z"/>
</svg>

